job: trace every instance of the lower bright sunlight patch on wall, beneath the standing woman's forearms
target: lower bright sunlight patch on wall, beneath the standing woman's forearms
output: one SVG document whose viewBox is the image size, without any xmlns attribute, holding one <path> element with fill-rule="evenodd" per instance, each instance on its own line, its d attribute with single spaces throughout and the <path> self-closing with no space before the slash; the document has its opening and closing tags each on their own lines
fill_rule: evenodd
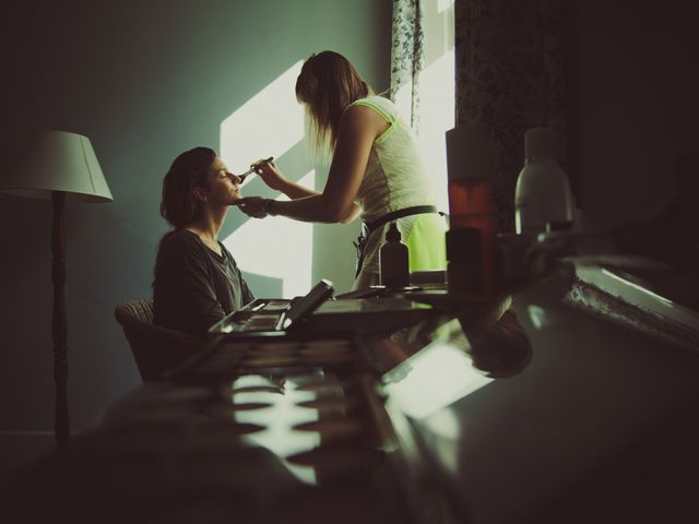
<svg viewBox="0 0 699 524">
<path fill-rule="evenodd" d="M 312 170 L 299 183 L 312 188 L 315 182 L 316 171 Z M 288 199 L 281 196 L 276 200 Z M 312 224 L 284 217 L 251 218 L 223 243 L 236 253 L 236 262 L 242 271 L 281 278 L 282 297 L 306 295 L 310 289 Z"/>
</svg>

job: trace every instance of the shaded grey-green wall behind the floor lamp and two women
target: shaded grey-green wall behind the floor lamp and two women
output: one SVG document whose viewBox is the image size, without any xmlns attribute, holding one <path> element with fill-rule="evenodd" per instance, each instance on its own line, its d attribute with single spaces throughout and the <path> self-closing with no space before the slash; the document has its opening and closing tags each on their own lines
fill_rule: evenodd
<svg viewBox="0 0 699 524">
<path fill-rule="evenodd" d="M 140 383 L 114 308 L 150 296 L 156 245 L 167 229 L 158 214 L 162 178 L 174 157 L 194 145 L 217 150 L 222 120 L 311 52 L 337 50 L 377 91 L 387 88 L 391 5 L 152 0 L 3 8 L 0 167 L 36 130 L 76 132 L 91 139 L 115 199 L 66 209 L 73 429 Z M 289 176 L 307 167 L 298 156 L 280 158 Z M 229 213 L 223 233 L 246 219 Z M 0 431 L 52 428 L 50 224 L 49 201 L 0 194 Z M 315 227 L 313 279 L 350 287 L 355 234 Z"/>
</svg>

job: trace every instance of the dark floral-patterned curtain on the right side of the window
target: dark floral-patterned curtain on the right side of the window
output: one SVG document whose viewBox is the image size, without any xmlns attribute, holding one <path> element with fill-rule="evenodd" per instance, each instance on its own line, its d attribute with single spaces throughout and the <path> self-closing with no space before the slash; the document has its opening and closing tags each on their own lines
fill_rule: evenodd
<svg viewBox="0 0 699 524">
<path fill-rule="evenodd" d="M 524 132 L 555 129 L 566 165 L 562 3 L 457 0 L 457 123 L 478 122 L 495 150 L 497 230 L 514 230 Z"/>
</svg>

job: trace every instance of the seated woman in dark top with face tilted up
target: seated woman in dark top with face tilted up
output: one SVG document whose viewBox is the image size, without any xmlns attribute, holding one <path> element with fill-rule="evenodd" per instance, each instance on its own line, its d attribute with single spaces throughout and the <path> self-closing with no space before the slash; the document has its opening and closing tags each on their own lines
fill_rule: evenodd
<svg viewBox="0 0 699 524">
<path fill-rule="evenodd" d="M 209 147 L 182 153 L 165 175 L 161 214 L 174 229 L 161 240 L 155 262 L 155 324 L 204 334 L 254 298 L 218 241 L 240 181 Z"/>
</svg>

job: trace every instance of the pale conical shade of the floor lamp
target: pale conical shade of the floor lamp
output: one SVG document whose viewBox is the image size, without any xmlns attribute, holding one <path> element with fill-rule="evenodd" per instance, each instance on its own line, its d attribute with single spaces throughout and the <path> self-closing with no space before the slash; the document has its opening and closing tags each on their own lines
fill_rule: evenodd
<svg viewBox="0 0 699 524">
<path fill-rule="evenodd" d="M 110 202 L 111 192 L 90 139 L 66 131 L 38 133 L 12 168 L 0 176 L 0 191 L 33 199 Z"/>
</svg>

